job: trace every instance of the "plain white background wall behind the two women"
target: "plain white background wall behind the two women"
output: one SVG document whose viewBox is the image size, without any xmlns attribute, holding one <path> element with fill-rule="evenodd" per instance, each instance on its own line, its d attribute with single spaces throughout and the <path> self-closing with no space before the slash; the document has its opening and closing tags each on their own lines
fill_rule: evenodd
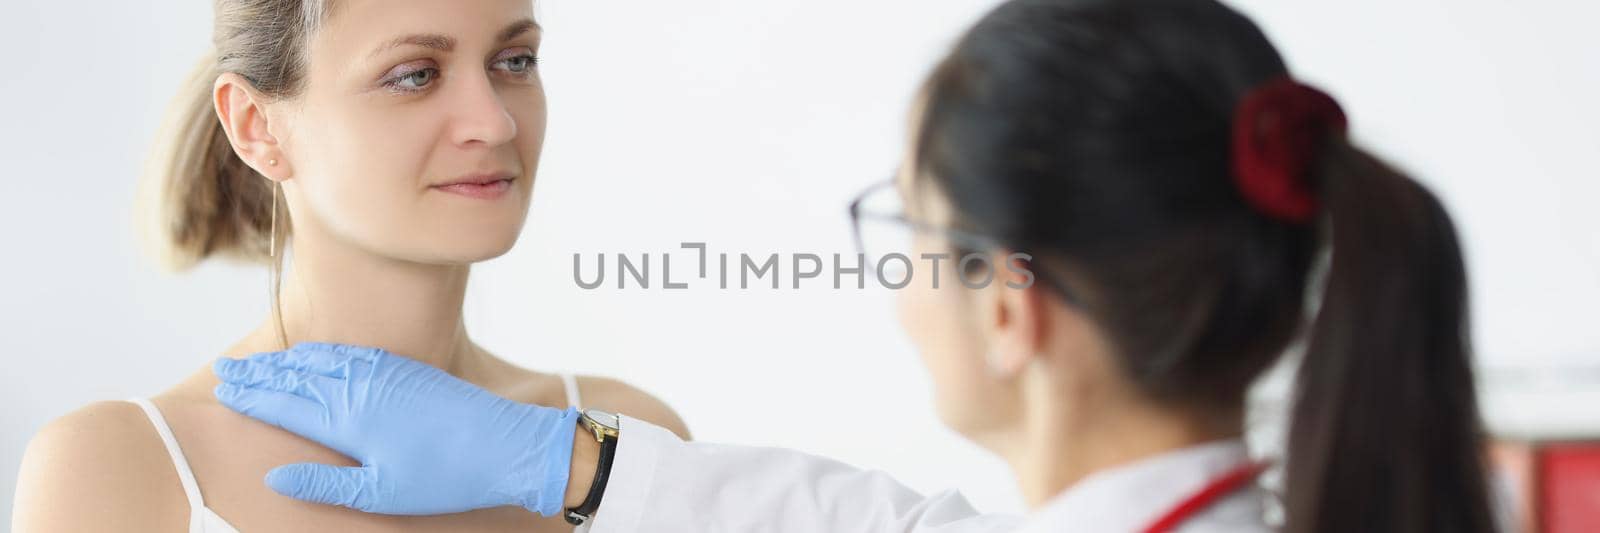
<svg viewBox="0 0 1600 533">
<path fill-rule="evenodd" d="M 701 439 L 803 448 L 1021 509 L 1002 464 L 938 424 L 886 291 L 584 291 L 571 277 L 573 253 L 686 240 L 851 253 L 845 202 L 893 168 L 912 88 L 994 3 L 550 0 L 533 214 L 510 254 L 477 269 L 470 331 L 530 368 L 640 384 Z M 1357 138 L 1443 195 L 1466 237 L 1482 363 L 1595 368 L 1600 8 L 1235 5 L 1341 98 Z M 165 389 L 266 311 L 261 271 L 163 275 L 128 227 L 138 168 L 210 21 L 206 2 L 0 6 L 0 525 L 40 426 Z M 675 258 L 688 272 L 691 254 Z M 1595 391 L 1589 376 L 1578 391 Z M 1600 431 L 1581 411 L 1490 408 L 1501 424 Z"/>
</svg>

